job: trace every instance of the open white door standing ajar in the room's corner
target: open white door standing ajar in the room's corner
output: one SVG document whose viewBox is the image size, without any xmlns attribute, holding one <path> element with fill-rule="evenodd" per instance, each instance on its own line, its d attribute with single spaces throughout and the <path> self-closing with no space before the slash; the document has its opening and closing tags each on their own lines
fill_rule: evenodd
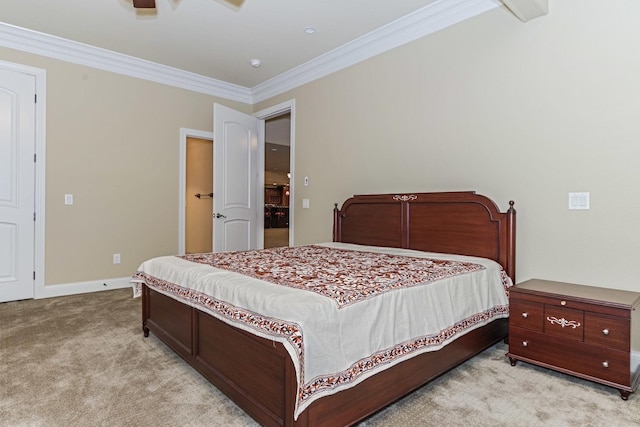
<svg viewBox="0 0 640 427">
<path fill-rule="evenodd" d="M 258 119 L 213 106 L 213 251 L 257 247 Z"/>
</svg>

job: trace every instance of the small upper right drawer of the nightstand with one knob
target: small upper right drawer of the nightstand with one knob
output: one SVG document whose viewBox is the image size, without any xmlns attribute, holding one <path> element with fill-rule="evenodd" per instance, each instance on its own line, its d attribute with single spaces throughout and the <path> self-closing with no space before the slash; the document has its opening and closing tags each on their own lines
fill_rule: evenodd
<svg viewBox="0 0 640 427">
<path fill-rule="evenodd" d="M 630 351 L 631 321 L 594 313 L 584 315 L 584 342 Z"/>
</svg>

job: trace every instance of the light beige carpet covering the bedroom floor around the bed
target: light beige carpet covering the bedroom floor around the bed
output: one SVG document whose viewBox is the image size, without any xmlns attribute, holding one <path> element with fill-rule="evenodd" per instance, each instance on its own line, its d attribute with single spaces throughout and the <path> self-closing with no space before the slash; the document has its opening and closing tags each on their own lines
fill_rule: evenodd
<svg viewBox="0 0 640 427">
<path fill-rule="evenodd" d="M 640 394 L 524 363 L 498 344 L 361 423 L 638 426 Z M 0 304 L 2 426 L 254 426 L 153 334 L 120 289 Z"/>
</svg>

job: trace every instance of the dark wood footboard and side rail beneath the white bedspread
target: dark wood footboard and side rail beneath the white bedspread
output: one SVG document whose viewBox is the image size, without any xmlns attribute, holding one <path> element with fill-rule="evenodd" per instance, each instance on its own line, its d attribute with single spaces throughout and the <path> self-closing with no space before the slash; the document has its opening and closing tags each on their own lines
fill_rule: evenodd
<svg viewBox="0 0 640 427">
<path fill-rule="evenodd" d="M 280 343 L 251 335 L 143 285 L 143 330 L 153 332 L 265 426 L 352 425 L 442 375 L 507 335 L 495 320 L 436 352 L 424 353 L 313 402 L 293 419 L 296 374 Z"/>
</svg>

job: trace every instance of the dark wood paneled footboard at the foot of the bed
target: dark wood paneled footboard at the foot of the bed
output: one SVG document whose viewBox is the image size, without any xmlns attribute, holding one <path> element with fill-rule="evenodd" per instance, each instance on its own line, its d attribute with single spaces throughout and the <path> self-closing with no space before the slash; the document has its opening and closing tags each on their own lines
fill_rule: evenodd
<svg viewBox="0 0 640 427">
<path fill-rule="evenodd" d="M 292 425 L 296 374 L 284 346 L 234 328 L 143 285 L 149 330 L 265 426 Z"/>
</svg>

